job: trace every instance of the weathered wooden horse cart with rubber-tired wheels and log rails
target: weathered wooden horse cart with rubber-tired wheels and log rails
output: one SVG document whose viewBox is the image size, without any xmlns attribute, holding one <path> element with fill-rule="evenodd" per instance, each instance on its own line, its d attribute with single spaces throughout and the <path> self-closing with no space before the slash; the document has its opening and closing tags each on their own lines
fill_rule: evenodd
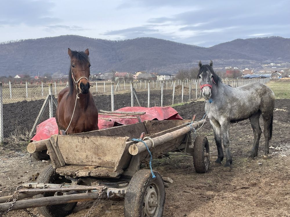
<svg viewBox="0 0 290 217">
<path fill-rule="evenodd" d="M 37 195 L 36 199 L 17 201 L 10 210 L 39 207 L 46 217 L 61 217 L 70 214 L 78 201 L 124 198 L 125 217 L 160 217 L 165 202 L 163 179 L 156 171 L 140 170 L 140 161 L 150 159 L 150 152 L 153 157 L 183 152 L 193 155 L 197 172 L 206 172 L 206 137 L 196 137 L 191 144 L 191 132 L 204 122 L 145 121 L 33 142 L 28 151 L 47 149 L 51 164 L 37 183 L 25 183 L 18 190 L 18 199 Z M 11 207 L 11 202 L 4 203 L 7 198 L 0 198 L 2 212 Z"/>
</svg>

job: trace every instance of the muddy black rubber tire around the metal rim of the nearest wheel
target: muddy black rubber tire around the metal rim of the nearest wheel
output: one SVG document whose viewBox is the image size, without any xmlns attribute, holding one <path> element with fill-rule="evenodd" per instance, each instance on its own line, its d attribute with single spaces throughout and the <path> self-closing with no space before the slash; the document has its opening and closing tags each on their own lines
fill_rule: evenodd
<svg viewBox="0 0 290 217">
<path fill-rule="evenodd" d="M 162 177 L 156 171 L 153 171 L 156 178 L 152 178 L 150 170 L 139 170 L 132 177 L 124 199 L 124 216 L 140 217 L 143 212 L 143 202 L 147 187 L 155 182 L 160 188 L 159 197 L 161 206 L 154 217 L 162 217 L 165 203 L 165 189 Z"/>
</svg>

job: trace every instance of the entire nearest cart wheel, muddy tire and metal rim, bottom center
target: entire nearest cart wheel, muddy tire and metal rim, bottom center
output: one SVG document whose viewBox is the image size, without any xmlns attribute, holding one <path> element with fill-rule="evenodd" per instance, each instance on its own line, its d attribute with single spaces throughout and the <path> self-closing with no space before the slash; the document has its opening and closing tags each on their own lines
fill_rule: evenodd
<svg viewBox="0 0 290 217">
<path fill-rule="evenodd" d="M 139 170 L 132 177 L 124 200 L 125 217 L 161 217 L 165 203 L 163 180 L 154 171 Z"/>
</svg>

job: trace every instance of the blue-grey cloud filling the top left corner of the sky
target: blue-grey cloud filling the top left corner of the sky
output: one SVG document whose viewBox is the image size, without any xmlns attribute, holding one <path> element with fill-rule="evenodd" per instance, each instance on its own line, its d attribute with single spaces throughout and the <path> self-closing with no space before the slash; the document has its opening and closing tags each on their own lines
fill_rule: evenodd
<svg viewBox="0 0 290 217">
<path fill-rule="evenodd" d="M 51 17 L 50 10 L 55 6 L 49 1 L 10 0 L 1 2 L 0 24 L 30 26 L 57 23 L 60 19 Z"/>
</svg>

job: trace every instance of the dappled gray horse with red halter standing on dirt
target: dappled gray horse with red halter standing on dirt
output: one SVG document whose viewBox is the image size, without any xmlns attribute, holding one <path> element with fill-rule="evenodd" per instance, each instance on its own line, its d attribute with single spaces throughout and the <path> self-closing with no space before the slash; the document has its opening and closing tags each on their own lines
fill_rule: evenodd
<svg viewBox="0 0 290 217">
<path fill-rule="evenodd" d="M 218 148 L 218 159 L 216 166 L 220 166 L 224 158 L 222 151 L 222 138 L 226 150 L 227 170 L 231 170 L 232 158 L 229 149 L 229 125 L 245 119 L 250 119 L 254 133 L 254 144 L 249 159 L 258 155 L 259 141 L 262 130 L 259 118 L 264 120 L 265 149 L 263 159 L 268 159 L 269 140 L 272 138 L 273 109 L 275 95 L 273 91 L 264 84 L 251 83 L 242 87 L 233 88 L 223 84 L 221 78 L 213 71 L 213 61 L 209 65 L 198 63 L 202 95 L 206 100 L 204 110 L 210 119 L 215 144 Z"/>
</svg>

